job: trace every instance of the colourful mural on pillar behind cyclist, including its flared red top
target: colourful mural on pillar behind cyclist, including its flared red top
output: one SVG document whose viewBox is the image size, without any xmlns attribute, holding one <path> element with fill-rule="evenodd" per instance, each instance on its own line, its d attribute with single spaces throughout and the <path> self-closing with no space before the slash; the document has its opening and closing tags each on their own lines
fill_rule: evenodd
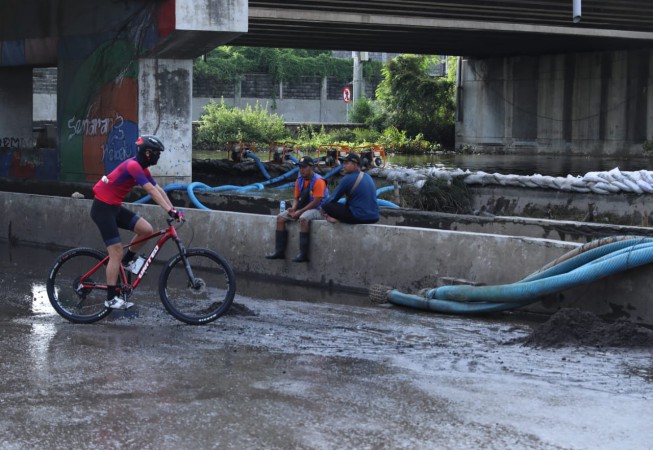
<svg viewBox="0 0 653 450">
<path fill-rule="evenodd" d="M 95 181 L 135 155 L 138 59 L 170 33 L 174 4 L 145 4 L 132 12 L 119 36 L 62 38 L 57 112 L 62 180 Z"/>
</svg>

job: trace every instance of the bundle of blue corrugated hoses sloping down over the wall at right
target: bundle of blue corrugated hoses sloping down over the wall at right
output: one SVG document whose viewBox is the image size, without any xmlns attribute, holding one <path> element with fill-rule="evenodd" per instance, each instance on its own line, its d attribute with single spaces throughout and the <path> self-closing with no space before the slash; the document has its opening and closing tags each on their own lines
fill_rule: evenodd
<svg viewBox="0 0 653 450">
<path fill-rule="evenodd" d="M 447 314 L 479 314 L 516 309 L 539 297 L 653 262 L 653 239 L 614 236 L 592 241 L 547 264 L 526 278 L 496 286 L 442 286 L 405 294 L 385 286 L 370 289 L 374 303 L 386 301 Z"/>
</svg>

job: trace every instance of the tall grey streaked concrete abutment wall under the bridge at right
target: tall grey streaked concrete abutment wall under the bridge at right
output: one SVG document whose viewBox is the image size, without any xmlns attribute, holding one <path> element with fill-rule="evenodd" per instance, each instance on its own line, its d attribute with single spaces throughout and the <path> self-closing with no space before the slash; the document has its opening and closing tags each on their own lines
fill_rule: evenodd
<svg viewBox="0 0 653 450">
<path fill-rule="evenodd" d="M 653 139 L 653 50 L 463 64 L 456 145 L 479 151 L 642 153 Z"/>
</svg>

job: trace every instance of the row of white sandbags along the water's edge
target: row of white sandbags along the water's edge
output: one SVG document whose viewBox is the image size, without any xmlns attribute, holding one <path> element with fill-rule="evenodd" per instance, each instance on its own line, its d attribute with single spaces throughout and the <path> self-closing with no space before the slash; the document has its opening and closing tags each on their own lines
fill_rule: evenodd
<svg viewBox="0 0 653 450">
<path fill-rule="evenodd" d="M 469 170 L 445 170 L 434 167 L 425 169 L 373 169 L 370 171 L 388 181 L 397 181 L 421 188 L 428 177 L 451 181 L 464 177 L 469 185 L 500 185 L 523 188 L 555 189 L 567 192 L 593 192 L 595 194 L 653 194 L 653 172 L 640 170 L 622 172 L 614 168 L 608 172 L 588 172 L 584 176 L 567 175 L 503 175 L 500 173 L 470 172 Z"/>
</svg>

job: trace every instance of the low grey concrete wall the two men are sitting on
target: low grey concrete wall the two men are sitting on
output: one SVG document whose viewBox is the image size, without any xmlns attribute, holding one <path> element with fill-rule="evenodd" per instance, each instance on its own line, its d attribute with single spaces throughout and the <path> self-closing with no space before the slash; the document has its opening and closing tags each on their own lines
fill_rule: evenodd
<svg viewBox="0 0 653 450">
<path fill-rule="evenodd" d="M 0 207 L 4 211 L 0 227 L 5 230 L 1 238 L 9 242 L 103 247 L 89 218 L 91 200 L 0 192 Z M 129 207 L 155 227 L 165 225 L 158 206 Z M 325 288 L 364 290 L 384 284 L 416 292 L 447 278 L 511 283 L 580 245 L 495 234 L 316 222 L 311 230 L 311 262 L 296 264 L 290 258 L 264 258 L 274 246 L 272 215 L 186 212 L 190 220 L 180 229 L 181 237 L 191 247 L 207 246 L 222 253 L 239 277 L 269 277 Z M 297 252 L 298 230 L 294 225 L 289 228 L 288 255 L 292 256 Z M 653 324 L 648 299 L 652 279 L 650 267 L 635 269 L 546 297 L 529 310 L 551 313 L 563 306 L 577 306 L 606 317 Z"/>
</svg>

